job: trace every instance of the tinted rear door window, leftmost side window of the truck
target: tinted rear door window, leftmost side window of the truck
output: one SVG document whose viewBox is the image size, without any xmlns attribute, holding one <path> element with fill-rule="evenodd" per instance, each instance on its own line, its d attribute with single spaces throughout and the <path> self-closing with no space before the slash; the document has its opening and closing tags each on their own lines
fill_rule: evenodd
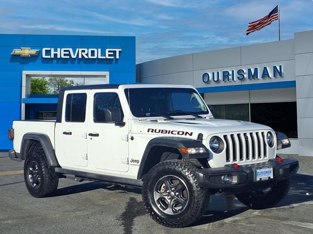
<svg viewBox="0 0 313 234">
<path fill-rule="evenodd" d="M 65 121 L 85 122 L 87 94 L 68 94 L 65 107 Z"/>
</svg>

